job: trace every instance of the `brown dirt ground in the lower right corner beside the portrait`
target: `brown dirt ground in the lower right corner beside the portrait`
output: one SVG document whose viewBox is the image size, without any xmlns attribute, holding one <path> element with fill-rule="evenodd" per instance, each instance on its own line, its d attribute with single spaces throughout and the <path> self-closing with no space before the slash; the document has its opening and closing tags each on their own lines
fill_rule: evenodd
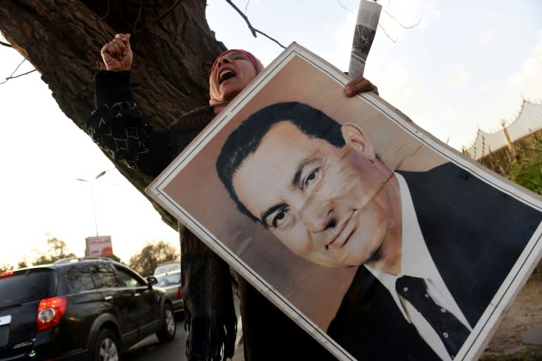
<svg viewBox="0 0 542 361">
<path fill-rule="evenodd" d="M 517 295 L 480 360 L 542 360 L 542 346 L 522 344 L 522 332 L 531 327 L 542 327 L 542 264 Z"/>
</svg>

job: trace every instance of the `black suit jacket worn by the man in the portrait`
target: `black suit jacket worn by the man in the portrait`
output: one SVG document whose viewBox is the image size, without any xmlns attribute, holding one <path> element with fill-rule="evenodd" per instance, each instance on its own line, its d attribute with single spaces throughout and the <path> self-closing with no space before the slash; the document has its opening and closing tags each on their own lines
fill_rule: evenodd
<svg viewBox="0 0 542 361">
<path fill-rule="evenodd" d="M 542 214 L 452 163 L 399 173 L 430 255 L 474 327 Z M 327 334 L 359 360 L 440 360 L 365 267 L 359 267 Z"/>
</svg>

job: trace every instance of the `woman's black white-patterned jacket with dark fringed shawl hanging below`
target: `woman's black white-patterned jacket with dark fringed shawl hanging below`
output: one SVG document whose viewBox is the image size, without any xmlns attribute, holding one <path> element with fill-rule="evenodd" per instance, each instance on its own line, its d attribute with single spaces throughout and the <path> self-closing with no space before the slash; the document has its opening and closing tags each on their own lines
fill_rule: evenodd
<svg viewBox="0 0 542 361">
<path fill-rule="evenodd" d="M 133 102 L 129 71 L 97 73 L 95 94 L 88 134 L 114 162 L 146 176 L 157 176 L 212 120 L 212 108 L 203 106 L 155 130 Z M 181 224 L 179 234 L 188 360 L 231 357 L 237 319 L 229 266 Z"/>
</svg>

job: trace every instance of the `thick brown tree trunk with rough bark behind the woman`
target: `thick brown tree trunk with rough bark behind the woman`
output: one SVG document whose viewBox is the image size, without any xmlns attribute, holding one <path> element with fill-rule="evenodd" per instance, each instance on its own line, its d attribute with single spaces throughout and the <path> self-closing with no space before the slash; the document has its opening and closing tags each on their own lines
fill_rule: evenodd
<svg viewBox="0 0 542 361">
<path fill-rule="evenodd" d="M 92 77 L 100 49 L 131 33 L 135 102 L 157 129 L 207 104 L 209 69 L 225 49 L 205 20 L 205 0 L 1 0 L 0 31 L 49 85 L 60 109 L 81 129 L 94 110 Z M 116 168 L 140 192 L 151 178 Z M 176 220 L 150 200 L 162 219 Z"/>
</svg>

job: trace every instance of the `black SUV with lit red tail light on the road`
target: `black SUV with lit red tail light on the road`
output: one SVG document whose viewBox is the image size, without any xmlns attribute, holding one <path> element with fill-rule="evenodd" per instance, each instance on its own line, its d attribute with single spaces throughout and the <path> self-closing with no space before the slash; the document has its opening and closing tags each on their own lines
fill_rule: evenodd
<svg viewBox="0 0 542 361">
<path fill-rule="evenodd" d="M 154 276 L 111 259 L 61 259 L 0 274 L 0 361 L 119 360 L 151 334 L 175 338 Z"/>
</svg>

